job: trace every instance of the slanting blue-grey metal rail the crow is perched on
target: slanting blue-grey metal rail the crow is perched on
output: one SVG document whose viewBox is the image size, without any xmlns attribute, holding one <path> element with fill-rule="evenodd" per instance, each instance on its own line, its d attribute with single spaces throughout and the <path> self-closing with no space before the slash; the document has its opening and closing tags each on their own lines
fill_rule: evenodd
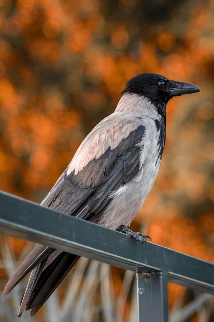
<svg viewBox="0 0 214 322">
<path fill-rule="evenodd" d="M 0 231 L 135 272 L 167 271 L 168 281 L 214 294 L 214 265 L 0 193 Z"/>
</svg>

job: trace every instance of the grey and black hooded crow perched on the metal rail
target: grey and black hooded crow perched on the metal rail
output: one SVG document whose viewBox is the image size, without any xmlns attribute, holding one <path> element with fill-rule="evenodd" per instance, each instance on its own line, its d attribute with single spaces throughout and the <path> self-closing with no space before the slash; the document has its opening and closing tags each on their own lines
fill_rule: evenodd
<svg viewBox="0 0 214 322">
<path fill-rule="evenodd" d="M 166 140 L 166 105 L 175 96 L 199 91 L 191 83 L 154 73 L 131 78 L 115 112 L 83 140 L 41 205 L 146 242 L 149 236 L 128 226 L 160 168 Z M 65 251 L 36 245 L 3 291 L 7 295 L 31 272 L 17 316 L 30 310 L 33 317 L 78 259 Z"/>
</svg>

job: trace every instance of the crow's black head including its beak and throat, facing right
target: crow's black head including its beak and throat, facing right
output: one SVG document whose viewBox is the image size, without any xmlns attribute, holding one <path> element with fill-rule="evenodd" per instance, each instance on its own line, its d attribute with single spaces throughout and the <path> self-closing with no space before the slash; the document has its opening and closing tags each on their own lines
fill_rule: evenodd
<svg viewBox="0 0 214 322">
<path fill-rule="evenodd" d="M 131 78 L 122 95 L 133 93 L 144 96 L 156 106 L 160 114 L 165 116 L 166 104 L 172 97 L 199 91 L 200 88 L 193 84 L 171 81 L 159 74 L 145 73 Z"/>
</svg>

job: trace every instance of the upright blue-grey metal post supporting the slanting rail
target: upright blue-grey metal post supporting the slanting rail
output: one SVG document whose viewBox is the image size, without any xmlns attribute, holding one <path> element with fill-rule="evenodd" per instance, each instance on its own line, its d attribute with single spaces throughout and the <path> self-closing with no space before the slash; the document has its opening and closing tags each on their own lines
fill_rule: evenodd
<svg viewBox="0 0 214 322">
<path fill-rule="evenodd" d="M 168 322 L 167 273 L 137 273 L 139 322 Z"/>
</svg>

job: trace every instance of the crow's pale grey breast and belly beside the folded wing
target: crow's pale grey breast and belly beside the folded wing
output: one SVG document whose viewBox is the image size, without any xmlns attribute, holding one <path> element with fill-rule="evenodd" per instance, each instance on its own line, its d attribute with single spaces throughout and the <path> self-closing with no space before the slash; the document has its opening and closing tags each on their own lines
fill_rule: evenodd
<svg viewBox="0 0 214 322">
<path fill-rule="evenodd" d="M 145 133 L 138 144 L 141 149 L 139 172 L 110 195 L 111 203 L 98 221 L 108 228 L 117 229 L 122 224 L 128 226 L 132 222 L 158 174 L 165 144 L 165 124 L 160 118 L 154 120 L 144 117 L 142 125 Z"/>
</svg>

